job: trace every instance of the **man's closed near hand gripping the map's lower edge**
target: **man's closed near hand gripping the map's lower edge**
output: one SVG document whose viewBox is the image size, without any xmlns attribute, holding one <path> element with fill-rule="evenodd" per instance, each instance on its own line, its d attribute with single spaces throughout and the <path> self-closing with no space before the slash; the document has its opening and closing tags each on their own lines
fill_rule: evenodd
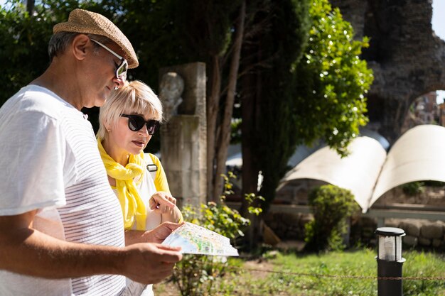
<svg viewBox="0 0 445 296">
<path fill-rule="evenodd" d="M 181 261 L 181 248 L 162 246 L 159 243 L 136 243 L 125 248 L 125 275 L 144 284 L 159 283 L 173 272 Z"/>
</svg>

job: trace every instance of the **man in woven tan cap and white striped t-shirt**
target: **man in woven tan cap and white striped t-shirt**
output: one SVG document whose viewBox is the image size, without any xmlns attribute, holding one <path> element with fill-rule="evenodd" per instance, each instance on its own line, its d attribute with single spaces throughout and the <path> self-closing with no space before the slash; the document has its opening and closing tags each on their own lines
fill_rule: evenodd
<svg viewBox="0 0 445 296">
<path fill-rule="evenodd" d="M 181 260 L 159 244 L 178 224 L 124 246 L 122 211 L 80 111 L 137 67 L 132 45 L 104 16 L 75 9 L 54 26 L 49 54 L 43 75 L 0 109 L 0 295 L 122 295 L 125 276 L 157 283 Z"/>
</svg>

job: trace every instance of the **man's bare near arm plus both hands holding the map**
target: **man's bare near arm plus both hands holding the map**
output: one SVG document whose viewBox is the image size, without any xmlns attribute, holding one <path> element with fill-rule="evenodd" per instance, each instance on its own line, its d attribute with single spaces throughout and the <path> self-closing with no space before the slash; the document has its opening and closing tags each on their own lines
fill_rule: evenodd
<svg viewBox="0 0 445 296">
<path fill-rule="evenodd" d="M 182 259 L 181 248 L 136 243 L 124 248 L 70 243 L 33 229 L 36 210 L 0 216 L 0 269 L 40 278 L 80 278 L 126 275 L 140 283 L 159 283 Z M 150 241 L 163 241 L 181 226 L 163 223 L 148 232 Z M 145 234 L 145 233 L 144 233 Z"/>
</svg>

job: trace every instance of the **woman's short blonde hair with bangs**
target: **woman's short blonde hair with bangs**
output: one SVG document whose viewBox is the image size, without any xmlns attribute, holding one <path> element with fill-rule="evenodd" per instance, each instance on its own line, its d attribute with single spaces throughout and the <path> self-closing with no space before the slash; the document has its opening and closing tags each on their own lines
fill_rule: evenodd
<svg viewBox="0 0 445 296">
<path fill-rule="evenodd" d="M 151 114 L 162 122 L 162 104 L 158 96 L 144 82 L 134 80 L 112 92 L 100 107 L 98 138 L 107 138 L 105 124 L 114 128 L 122 114 Z"/>
</svg>

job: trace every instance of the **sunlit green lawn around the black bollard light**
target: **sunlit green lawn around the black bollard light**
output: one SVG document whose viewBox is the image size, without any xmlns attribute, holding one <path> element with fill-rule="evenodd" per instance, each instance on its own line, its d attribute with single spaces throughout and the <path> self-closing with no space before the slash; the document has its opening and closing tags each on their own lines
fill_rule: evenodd
<svg viewBox="0 0 445 296">
<path fill-rule="evenodd" d="M 375 250 L 365 248 L 320 256 L 265 253 L 262 263 L 230 259 L 233 268 L 218 280 L 219 292 L 215 295 L 377 296 L 377 280 L 373 278 L 377 276 L 375 256 Z M 407 259 L 404 277 L 445 277 L 444 254 L 408 251 L 403 257 Z M 347 275 L 372 278 L 345 278 Z M 445 296 L 445 280 L 404 279 L 403 292 L 404 296 Z"/>
</svg>

